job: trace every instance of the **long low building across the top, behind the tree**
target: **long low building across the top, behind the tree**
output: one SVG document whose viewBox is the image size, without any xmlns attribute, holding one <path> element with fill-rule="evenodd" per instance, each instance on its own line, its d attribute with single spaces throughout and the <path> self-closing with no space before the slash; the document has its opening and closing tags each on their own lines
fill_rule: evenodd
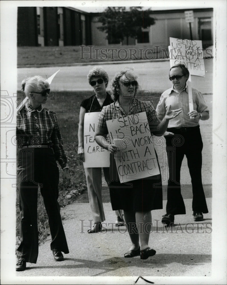
<svg viewBox="0 0 227 285">
<path fill-rule="evenodd" d="M 155 24 L 142 29 L 137 39 L 129 38 L 128 44 L 169 45 L 169 37 L 191 39 L 185 11 L 193 10 L 191 23 L 193 40 L 203 45 L 213 44 L 213 8 L 175 9 L 151 11 Z M 101 26 L 101 13 L 87 13 L 72 7 L 18 7 L 18 46 L 108 46 L 106 33 Z M 126 44 L 126 40 L 122 42 Z"/>
</svg>

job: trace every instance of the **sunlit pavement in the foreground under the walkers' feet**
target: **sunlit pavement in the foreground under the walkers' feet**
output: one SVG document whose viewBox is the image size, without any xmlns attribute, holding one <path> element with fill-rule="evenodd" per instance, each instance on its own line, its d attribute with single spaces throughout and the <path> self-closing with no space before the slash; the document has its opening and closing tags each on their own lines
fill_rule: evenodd
<svg viewBox="0 0 227 285">
<path fill-rule="evenodd" d="M 134 284 L 138 276 L 211 276 L 211 198 L 207 198 L 209 213 L 204 214 L 202 222 L 193 221 L 191 203 L 192 199 L 185 199 L 187 214 L 175 216 L 175 224 L 169 232 L 160 221 L 166 201 L 162 210 L 152 211 L 154 232 L 149 245 L 156 250 L 156 255 L 147 260 L 124 258 L 130 239 L 125 227 L 114 226 L 111 203 L 104 203 L 106 229 L 95 234 L 87 233 L 91 219 L 89 203 L 68 205 L 61 210 L 70 252 L 64 255 L 65 260 L 54 260 L 48 239 L 39 247 L 37 263 L 27 263 L 27 270 L 16 272 L 16 276 L 95 276 L 99 281 L 104 276 L 128 276 L 124 284 Z M 37 278 L 37 281 L 43 280 Z M 76 280 L 76 284 L 85 284 L 83 278 Z M 89 284 L 93 284 L 92 280 Z"/>
</svg>

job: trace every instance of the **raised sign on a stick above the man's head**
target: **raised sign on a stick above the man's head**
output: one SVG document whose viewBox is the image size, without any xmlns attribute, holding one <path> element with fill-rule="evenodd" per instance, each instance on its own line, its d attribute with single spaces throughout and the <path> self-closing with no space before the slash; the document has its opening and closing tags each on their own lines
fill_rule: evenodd
<svg viewBox="0 0 227 285">
<path fill-rule="evenodd" d="M 182 63 L 191 75 L 205 76 L 203 47 L 201 40 L 169 38 L 170 66 Z"/>
</svg>

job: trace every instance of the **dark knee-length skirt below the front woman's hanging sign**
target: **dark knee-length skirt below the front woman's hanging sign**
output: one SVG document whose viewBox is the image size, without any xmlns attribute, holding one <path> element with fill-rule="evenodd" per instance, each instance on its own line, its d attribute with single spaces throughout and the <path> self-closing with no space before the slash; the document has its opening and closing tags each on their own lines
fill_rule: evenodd
<svg viewBox="0 0 227 285">
<path fill-rule="evenodd" d="M 113 154 L 110 160 L 108 185 L 113 210 L 123 209 L 137 212 L 162 209 L 161 174 L 120 183 Z"/>
</svg>

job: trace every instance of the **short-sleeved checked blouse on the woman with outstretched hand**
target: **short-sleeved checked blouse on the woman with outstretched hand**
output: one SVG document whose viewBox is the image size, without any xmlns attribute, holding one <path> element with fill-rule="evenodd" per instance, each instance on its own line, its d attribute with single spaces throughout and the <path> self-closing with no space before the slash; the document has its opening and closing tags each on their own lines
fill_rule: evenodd
<svg viewBox="0 0 227 285">
<path fill-rule="evenodd" d="M 150 101 L 140 101 L 136 98 L 132 98 L 129 106 L 128 115 L 137 114 L 141 112 L 146 112 L 150 129 L 152 124 L 157 126 L 159 121 L 152 103 Z M 99 115 L 97 127 L 105 128 L 106 121 L 124 116 L 126 116 L 126 114 L 120 106 L 119 101 L 115 101 L 114 103 L 103 107 Z"/>
</svg>

